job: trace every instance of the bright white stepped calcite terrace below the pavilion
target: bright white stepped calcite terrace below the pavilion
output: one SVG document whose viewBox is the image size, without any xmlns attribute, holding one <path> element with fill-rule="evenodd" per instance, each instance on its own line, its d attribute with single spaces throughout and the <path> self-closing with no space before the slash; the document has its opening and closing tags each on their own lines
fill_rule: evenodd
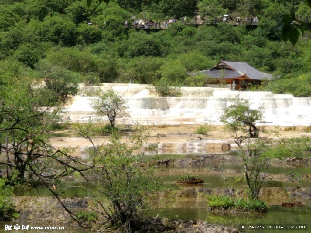
<svg viewBox="0 0 311 233">
<path fill-rule="evenodd" d="M 65 114 L 72 121 L 86 122 L 95 119 L 92 102 L 99 97 L 87 97 L 95 91 L 112 89 L 128 100 L 130 117 L 118 123 L 151 125 L 203 124 L 208 119 L 220 124 L 219 117 L 225 107 L 239 96 L 249 99 L 253 108 L 262 108 L 264 119 L 258 124 L 275 126 L 311 125 L 311 98 L 295 98 L 293 95 L 271 92 L 231 91 L 225 88 L 182 87 L 181 97 L 156 97 L 152 85 L 102 84 L 80 86 L 81 94 L 75 96 Z"/>
</svg>

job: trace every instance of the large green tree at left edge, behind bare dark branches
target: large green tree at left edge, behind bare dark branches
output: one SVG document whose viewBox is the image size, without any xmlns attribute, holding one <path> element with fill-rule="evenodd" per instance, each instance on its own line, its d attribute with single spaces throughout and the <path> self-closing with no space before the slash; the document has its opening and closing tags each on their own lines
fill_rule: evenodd
<svg viewBox="0 0 311 233">
<path fill-rule="evenodd" d="M 12 71 L 12 69 L 10 69 Z M 8 73 L 2 75 L 0 83 L 0 153 L 6 156 L 7 178 L 16 175 L 16 182 L 27 181 L 30 167 L 35 168 L 39 154 L 47 150 L 44 128 L 44 118 L 49 118 L 45 111 L 38 112 L 37 98 L 33 95 L 30 84 L 32 80 L 18 78 Z M 40 97 L 43 98 L 43 97 Z M 49 122 L 46 120 L 45 122 Z M 13 155 L 13 158 L 11 157 Z M 38 164 L 39 165 L 39 164 Z"/>
</svg>

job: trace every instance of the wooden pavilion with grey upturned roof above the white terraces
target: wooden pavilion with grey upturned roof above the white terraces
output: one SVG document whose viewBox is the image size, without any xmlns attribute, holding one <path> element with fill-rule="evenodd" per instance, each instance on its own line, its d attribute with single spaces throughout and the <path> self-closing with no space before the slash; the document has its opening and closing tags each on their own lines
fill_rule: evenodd
<svg viewBox="0 0 311 233">
<path fill-rule="evenodd" d="M 270 80 L 272 75 L 256 70 L 246 62 L 223 61 L 209 70 L 201 71 L 211 78 L 225 79 L 231 89 L 244 90 L 251 83 L 252 85 L 260 85 L 263 79 Z M 233 86 L 232 86 L 233 85 Z"/>
</svg>

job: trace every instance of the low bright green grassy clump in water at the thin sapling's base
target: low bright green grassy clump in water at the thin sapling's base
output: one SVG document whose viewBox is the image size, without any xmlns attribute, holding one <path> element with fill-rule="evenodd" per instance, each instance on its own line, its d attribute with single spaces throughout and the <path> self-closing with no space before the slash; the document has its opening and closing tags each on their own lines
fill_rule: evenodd
<svg viewBox="0 0 311 233">
<path fill-rule="evenodd" d="M 268 206 L 264 201 L 245 198 L 233 198 L 230 196 L 207 196 L 207 206 L 211 210 L 241 210 L 245 212 L 267 212 Z"/>
</svg>

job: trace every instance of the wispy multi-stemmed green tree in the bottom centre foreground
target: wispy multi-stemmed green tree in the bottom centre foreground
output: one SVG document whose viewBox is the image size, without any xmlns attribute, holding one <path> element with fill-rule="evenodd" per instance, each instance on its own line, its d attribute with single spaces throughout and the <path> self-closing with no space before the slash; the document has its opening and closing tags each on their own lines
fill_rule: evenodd
<svg viewBox="0 0 311 233">
<path fill-rule="evenodd" d="M 91 177 L 89 190 L 97 203 L 97 212 L 121 231 L 145 228 L 142 217 L 156 203 L 161 185 L 154 168 L 144 165 L 142 129 L 136 127 L 136 133 L 128 136 L 127 143 L 121 142 L 123 135 L 112 134 L 106 145 L 93 143 L 92 124 L 76 129 L 93 144 L 89 153 L 96 166 L 85 172 L 85 177 Z"/>
</svg>

